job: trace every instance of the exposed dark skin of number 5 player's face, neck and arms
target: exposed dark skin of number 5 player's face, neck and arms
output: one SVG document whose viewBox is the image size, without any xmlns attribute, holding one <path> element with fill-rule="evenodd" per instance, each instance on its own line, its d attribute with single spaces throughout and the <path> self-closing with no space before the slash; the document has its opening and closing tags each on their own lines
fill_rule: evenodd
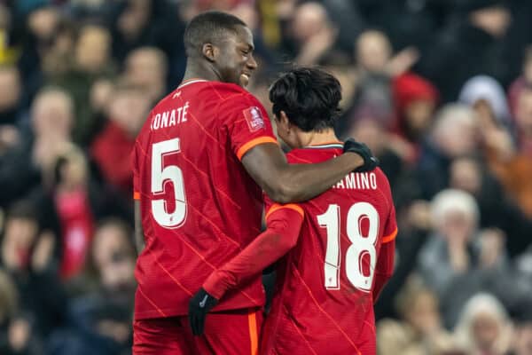
<svg viewBox="0 0 532 355">
<path fill-rule="evenodd" d="M 184 80 L 201 78 L 246 86 L 257 67 L 253 57 L 253 35 L 249 28 L 238 26 L 217 43 L 204 43 L 187 60 Z M 364 165 L 361 156 L 345 153 L 317 164 L 289 164 L 278 145 L 254 146 L 242 158 L 242 164 L 255 183 L 279 203 L 307 201 L 328 190 L 350 171 Z M 144 248 L 140 203 L 135 203 L 137 250 Z"/>
</svg>

